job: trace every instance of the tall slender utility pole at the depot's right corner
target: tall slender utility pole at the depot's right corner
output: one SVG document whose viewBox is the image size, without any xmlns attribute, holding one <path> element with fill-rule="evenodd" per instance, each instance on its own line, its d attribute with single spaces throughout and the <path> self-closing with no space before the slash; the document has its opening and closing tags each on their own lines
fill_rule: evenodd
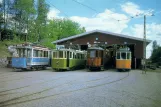
<svg viewBox="0 0 161 107">
<path fill-rule="evenodd" d="M 146 15 L 144 15 L 144 38 L 143 38 L 143 61 L 144 61 L 144 70 L 146 73 Z"/>
</svg>

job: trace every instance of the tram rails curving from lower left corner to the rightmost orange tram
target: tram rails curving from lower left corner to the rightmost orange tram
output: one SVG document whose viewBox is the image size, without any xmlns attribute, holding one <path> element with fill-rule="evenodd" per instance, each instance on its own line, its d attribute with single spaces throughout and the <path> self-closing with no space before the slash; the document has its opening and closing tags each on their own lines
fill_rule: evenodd
<svg viewBox="0 0 161 107">
<path fill-rule="evenodd" d="M 10 106 L 10 105 L 15 105 L 15 104 L 20 104 L 20 103 L 25 103 L 25 102 L 29 102 L 29 101 L 33 101 L 33 100 L 40 100 L 40 99 L 44 99 L 44 98 L 48 98 L 48 97 L 60 96 L 60 95 L 64 95 L 64 94 L 67 94 L 67 93 L 72 93 L 72 92 L 87 90 L 87 89 L 91 89 L 91 88 L 96 88 L 96 87 L 100 87 L 100 86 L 112 84 L 112 83 L 115 83 L 115 82 L 119 82 L 119 81 L 127 78 L 128 76 L 129 76 L 129 72 L 128 72 L 128 74 L 126 76 L 124 76 L 124 77 L 122 77 L 120 79 L 111 81 L 111 82 L 106 82 L 106 83 L 99 84 L 99 85 L 94 85 L 94 86 L 87 86 L 85 88 L 80 88 L 80 89 L 71 90 L 71 91 L 62 92 L 62 93 L 57 93 L 57 94 L 53 94 L 53 95 L 47 95 L 47 96 L 33 98 L 33 99 L 29 99 L 29 100 L 24 100 L 24 101 L 18 101 L 18 102 L 9 103 L 9 102 L 12 102 L 12 101 L 17 101 L 17 100 L 19 100 L 21 98 L 25 98 L 25 97 L 28 97 L 28 96 L 33 96 L 33 95 L 38 94 L 38 93 L 42 93 L 42 92 L 49 91 L 49 90 L 54 89 L 54 88 L 61 87 L 61 86 L 65 85 L 65 84 L 73 85 L 73 84 L 70 84 L 70 82 L 71 82 L 70 81 L 68 83 L 65 83 L 65 84 L 62 84 L 62 85 L 59 85 L 59 86 L 56 86 L 56 87 L 54 86 L 54 87 L 51 87 L 51 88 L 48 88 L 48 89 L 45 89 L 45 90 L 42 90 L 42 91 L 39 91 L 39 92 L 35 92 L 35 93 L 32 93 L 32 94 L 29 94 L 29 95 L 24 95 L 24 96 L 21 96 L 21 97 L 16 97 L 16 98 L 13 98 L 13 99 L 10 99 L 10 100 L 6 100 L 6 101 L 3 101 L 3 102 L 0 102 L 0 107 Z M 101 80 L 101 79 L 104 79 L 104 78 L 107 78 L 107 77 L 103 77 L 103 78 L 99 78 L 99 79 L 95 79 L 95 80 L 84 81 L 84 82 L 92 82 L 92 81 L 97 81 L 97 80 Z M 73 81 L 75 81 L 75 80 L 73 80 Z M 7 103 L 9 103 L 9 104 L 7 104 Z"/>
</svg>

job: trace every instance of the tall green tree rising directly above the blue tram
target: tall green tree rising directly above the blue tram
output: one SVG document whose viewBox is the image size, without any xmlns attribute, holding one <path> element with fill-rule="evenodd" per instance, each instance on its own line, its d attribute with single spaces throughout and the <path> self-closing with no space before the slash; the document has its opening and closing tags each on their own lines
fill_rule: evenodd
<svg viewBox="0 0 161 107">
<path fill-rule="evenodd" d="M 30 26 L 36 15 L 34 0 L 16 0 L 15 9 L 19 33 L 26 33 L 25 40 L 30 40 Z"/>
</svg>

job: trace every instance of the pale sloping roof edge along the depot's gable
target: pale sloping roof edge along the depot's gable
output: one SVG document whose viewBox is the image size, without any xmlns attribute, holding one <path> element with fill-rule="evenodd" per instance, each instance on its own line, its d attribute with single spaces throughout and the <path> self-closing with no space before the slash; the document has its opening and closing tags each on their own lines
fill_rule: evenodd
<svg viewBox="0 0 161 107">
<path fill-rule="evenodd" d="M 117 37 L 123 37 L 123 38 L 143 41 L 142 38 L 132 37 L 132 36 L 118 34 L 118 33 L 112 33 L 112 32 L 102 31 L 102 30 L 93 30 L 93 31 L 81 33 L 81 34 L 78 34 L 78 35 L 70 36 L 70 37 L 67 37 L 67 38 L 63 38 L 63 39 L 60 39 L 60 40 L 56 40 L 56 41 L 53 41 L 52 43 L 56 44 L 56 43 L 64 42 L 64 41 L 71 40 L 71 39 L 74 39 L 74 38 L 78 38 L 78 37 L 82 37 L 82 36 L 85 36 L 85 35 L 89 35 L 89 34 L 92 34 L 92 33 L 103 33 L 103 34 L 113 35 L 113 36 L 117 36 Z M 151 40 L 147 40 L 147 42 L 150 43 Z"/>
</svg>

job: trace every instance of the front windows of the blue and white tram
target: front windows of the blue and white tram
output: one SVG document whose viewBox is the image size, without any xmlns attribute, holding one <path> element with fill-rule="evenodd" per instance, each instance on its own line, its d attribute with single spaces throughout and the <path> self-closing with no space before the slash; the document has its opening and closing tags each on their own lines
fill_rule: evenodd
<svg viewBox="0 0 161 107">
<path fill-rule="evenodd" d="M 19 57 L 31 57 L 31 49 L 28 48 L 17 48 Z"/>
</svg>

